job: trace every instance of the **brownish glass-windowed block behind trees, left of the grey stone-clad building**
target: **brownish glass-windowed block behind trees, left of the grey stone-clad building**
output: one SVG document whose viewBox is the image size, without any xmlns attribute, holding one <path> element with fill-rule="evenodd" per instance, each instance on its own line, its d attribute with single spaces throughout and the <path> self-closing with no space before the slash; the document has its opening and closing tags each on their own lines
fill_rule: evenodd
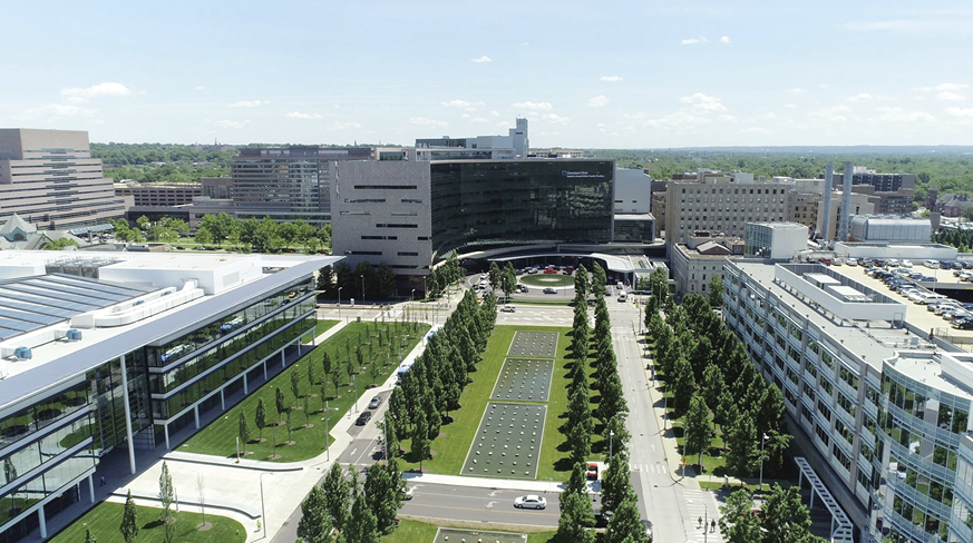
<svg viewBox="0 0 973 543">
<path fill-rule="evenodd" d="M 369 147 L 244 147 L 230 164 L 234 215 L 240 219 L 331 220 L 329 169 L 339 160 L 370 160 Z"/>
</svg>

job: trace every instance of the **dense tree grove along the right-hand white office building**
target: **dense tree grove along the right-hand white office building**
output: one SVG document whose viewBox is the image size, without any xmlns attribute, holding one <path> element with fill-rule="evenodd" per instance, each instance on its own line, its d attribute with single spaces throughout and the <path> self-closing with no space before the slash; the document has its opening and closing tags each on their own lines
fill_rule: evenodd
<svg viewBox="0 0 973 543">
<path fill-rule="evenodd" d="M 719 426 L 732 473 L 752 475 L 761 461 L 770 473 L 778 473 L 791 441 L 780 389 L 768 385 L 707 298 L 690 294 L 674 306 L 668 289 L 662 297 L 665 319 L 658 310 L 649 313 L 648 328 L 655 342 L 656 367 L 672 392 L 674 415 L 684 418 L 683 453 L 701 461 Z"/>
</svg>

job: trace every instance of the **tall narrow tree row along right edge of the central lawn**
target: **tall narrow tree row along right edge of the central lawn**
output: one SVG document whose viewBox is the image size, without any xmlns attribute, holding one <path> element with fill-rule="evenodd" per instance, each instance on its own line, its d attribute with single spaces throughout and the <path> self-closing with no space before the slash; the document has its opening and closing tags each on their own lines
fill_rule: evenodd
<svg viewBox="0 0 973 543">
<path fill-rule="evenodd" d="M 571 445 L 572 472 L 561 494 L 561 519 L 557 523 L 560 541 L 591 543 L 595 533 L 594 509 L 585 477 L 586 461 L 592 453 L 592 436 L 601 421 L 602 443 L 609 443 L 609 467 L 603 475 L 601 507 L 611 511 L 604 543 L 638 543 L 645 541 L 645 527 L 639 513 L 638 496 L 632 487 L 629 472 L 629 440 L 625 428 L 627 404 L 619 378 L 617 362 L 612 345 L 611 322 L 605 305 L 605 273 L 597 264 L 588 278 L 587 270 L 580 266 L 574 276 L 574 322 L 571 332 L 568 356 L 571 383 L 568 384 L 567 423 Z M 594 363 L 591 357 L 592 330 L 588 326 L 587 295 L 595 296 Z M 600 393 L 597 409 L 591 409 L 590 381 L 594 368 L 593 387 Z"/>
</svg>

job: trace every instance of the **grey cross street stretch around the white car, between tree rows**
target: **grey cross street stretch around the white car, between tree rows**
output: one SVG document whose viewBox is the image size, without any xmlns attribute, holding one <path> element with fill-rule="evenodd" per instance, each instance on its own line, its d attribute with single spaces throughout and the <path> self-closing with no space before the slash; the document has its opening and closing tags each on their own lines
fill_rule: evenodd
<svg viewBox="0 0 973 543">
<path fill-rule="evenodd" d="M 543 494 L 547 509 L 538 511 L 514 507 L 514 498 L 527 494 L 523 491 L 421 483 L 409 486 L 415 497 L 399 510 L 403 515 L 534 526 L 557 526 L 561 516 L 557 493 Z"/>
</svg>

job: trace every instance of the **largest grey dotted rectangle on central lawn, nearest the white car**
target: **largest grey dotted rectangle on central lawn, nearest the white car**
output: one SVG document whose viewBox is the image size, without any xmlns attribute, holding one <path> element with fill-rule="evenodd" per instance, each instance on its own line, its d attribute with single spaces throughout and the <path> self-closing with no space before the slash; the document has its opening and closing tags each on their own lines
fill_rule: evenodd
<svg viewBox="0 0 973 543">
<path fill-rule="evenodd" d="M 535 478 L 546 416 L 546 405 L 488 403 L 463 475 Z"/>
</svg>

